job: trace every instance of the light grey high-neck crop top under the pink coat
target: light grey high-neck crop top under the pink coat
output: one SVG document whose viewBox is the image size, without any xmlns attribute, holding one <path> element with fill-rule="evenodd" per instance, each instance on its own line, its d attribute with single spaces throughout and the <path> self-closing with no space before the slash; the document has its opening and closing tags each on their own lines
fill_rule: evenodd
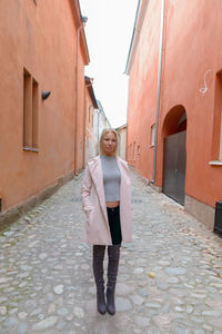
<svg viewBox="0 0 222 334">
<path fill-rule="evenodd" d="M 120 200 L 120 169 L 114 156 L 101 156 L 105 202 Z"/>
</svg>

